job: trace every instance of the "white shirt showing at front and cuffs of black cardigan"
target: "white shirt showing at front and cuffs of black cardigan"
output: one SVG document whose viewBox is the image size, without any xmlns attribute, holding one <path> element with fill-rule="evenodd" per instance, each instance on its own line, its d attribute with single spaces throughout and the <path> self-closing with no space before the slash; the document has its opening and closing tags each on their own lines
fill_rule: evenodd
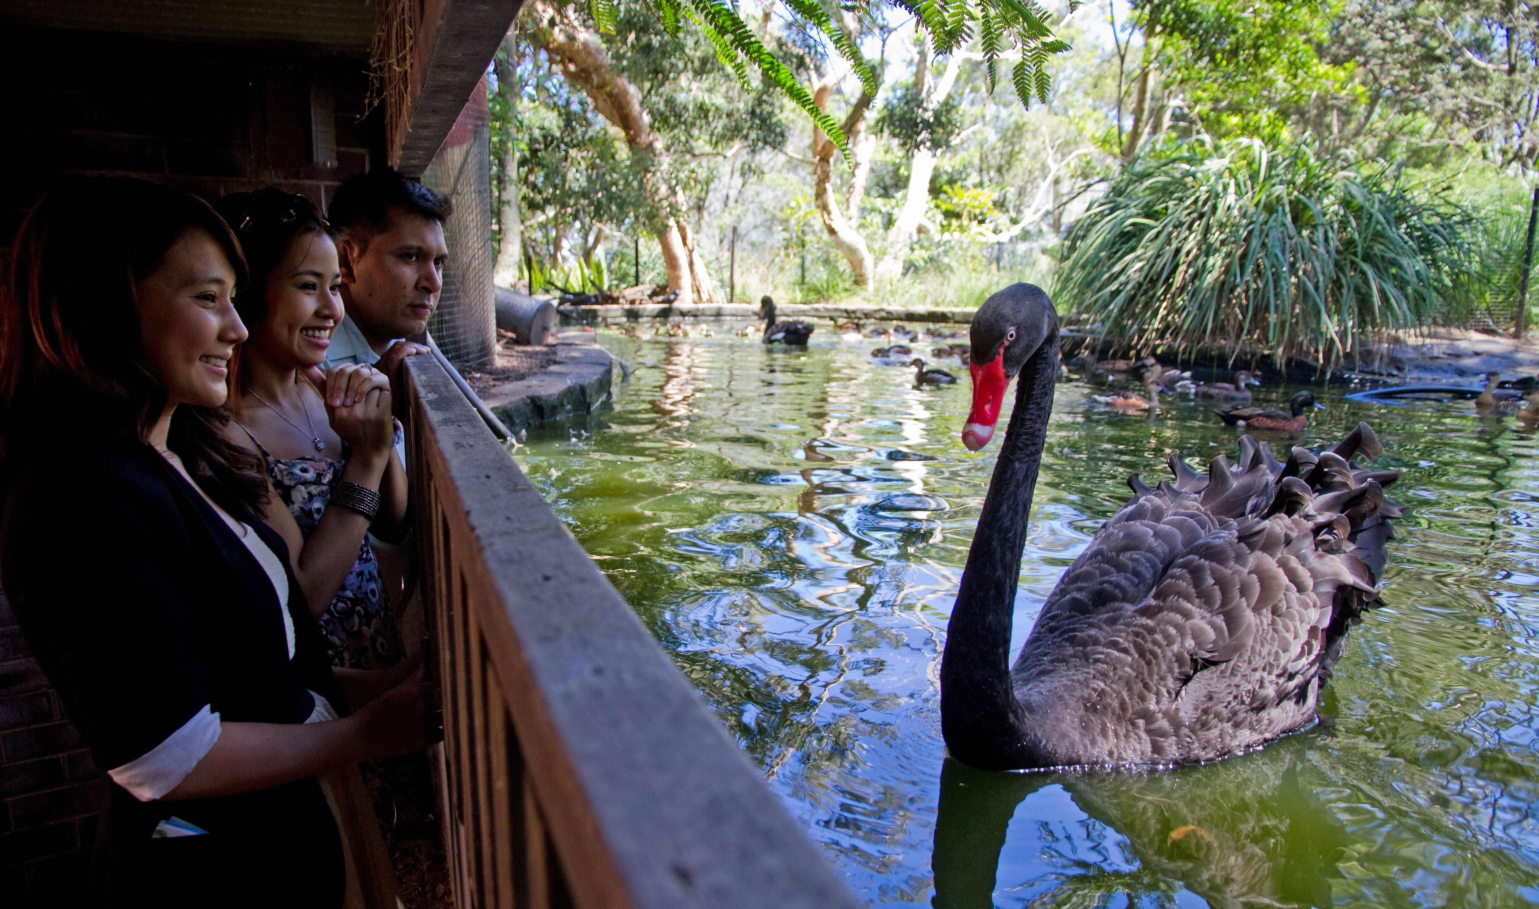
<svg viewBox="0 0 1539 909">
<path fill-rule="evenodd" d="M 268 575 L 268 581 L 272 584 L 272 592 L 279 597 L 279 609 L 283 612 L 283 635 L 288 640 L 289 660 L 292 660 L 294 618 L 288 611 L 288 574 L 285 574 L 283 563 L 277 554 L 262 541 L 262 537 L 249 524 L 242 523 L 240 529 L 245 531 L 240 541 L 246 544 L 257 564 L 262 566 L 262 571 Z M 309 718 L 305 720 L 306 723 L 337 718 L 337 712 L 326 698 L 315 692 L 309 694 L 315 698 L 315 709 L 311 711 Z M 126 764 L 112 767 L 106 774 L 134 798 L 154 801 L 180 786 L 182 780 L 186 780 L 192 767 L 203 760 L 215 741 L 219 741 L 219 714 L 212 711 L 212 704 L 203 704 L 202 711 L 194 714 L 180 729 L 168 735 L 165 741 Z"/>
</svg>

